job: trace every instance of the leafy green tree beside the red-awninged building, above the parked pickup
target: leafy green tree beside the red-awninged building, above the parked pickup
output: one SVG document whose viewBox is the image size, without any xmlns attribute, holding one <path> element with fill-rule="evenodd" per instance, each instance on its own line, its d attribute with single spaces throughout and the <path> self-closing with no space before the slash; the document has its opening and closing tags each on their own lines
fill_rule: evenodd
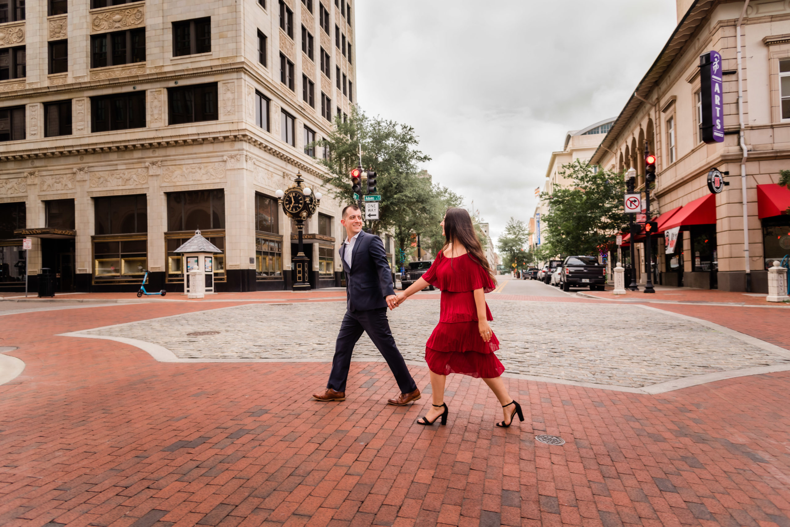
<svg viewBox="0 0 790 527">
<path fill-rule="evenodd" d="M 555 254 L 597 255 L 628 222 L 623 212 L 623 176 L 579 159 L 562 169 L 571 184 L 555 185 L 551 194 L 540 194 L 549 207 L 543 217 L 544 238 Z"/>
</svg>

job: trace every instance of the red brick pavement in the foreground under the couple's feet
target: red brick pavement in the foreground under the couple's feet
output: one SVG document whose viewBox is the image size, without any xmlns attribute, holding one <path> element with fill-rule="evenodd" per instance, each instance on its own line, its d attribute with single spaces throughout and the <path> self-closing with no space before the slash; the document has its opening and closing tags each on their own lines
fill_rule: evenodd
<svg viewBox="0 0 790 527">
<path fill-rule="evenodd" d="M 430 399 L 387 406 L 383 363 L 319 403 L 328 364 L 55 336 L 217 305 L 2 317 L 27 367 L 0 386 L 0 525 L 790 525 L 790 372 L 658 396 L 507 379 L 526 421 L 506 430 L 479 379 L 451 376 L 448 426 L 424 428 Z"/>
</svg>

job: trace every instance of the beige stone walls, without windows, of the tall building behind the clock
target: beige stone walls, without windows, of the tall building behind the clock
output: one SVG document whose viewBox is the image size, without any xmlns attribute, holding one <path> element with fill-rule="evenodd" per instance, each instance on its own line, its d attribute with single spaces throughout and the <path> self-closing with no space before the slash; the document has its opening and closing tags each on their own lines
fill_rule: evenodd
<svg viewBox="0 0 790 527">
<path fill-rule="evenodd" d="M 48 226 L 51 219 L 47 210 L 52 209 L 47 209 L 50 207 L 47 202 L 73 200 L 73 249 L 69 247 L 69 237 L 58 241 L 55 249 L 55 242 L 34 237 L 28 256 L 28 275 L 36 275 L 43 263 L 47 263 L 48 267 L 59 266 L 58 273 L 63 275 L 73 273 L 73 283 L 64 280 L 58 284 L 62 290 L 134 288 L 133 282 L 138 284 L 141 276 L 135 273 L 125 276 L 122 270 L 116 273 L 119 276 L 115 280 L 97 280 L 97 266 L 101 264 L 97 263 L 100 259 L 96 244 L 142 240 L 145 267 L 152 271 L 152 282 L 161 283 L 168 290 L 182 289 L 182 278 L 178 278 L 178 273 L 171 273 L 171 267 L 178 267 L 179 263 L 171 262 L 167 244 L 168 240 L 185 237 L 187 233 L 171 230 L 168 214 L 174 213 L 168 212 L 168 200 L 172 200 L 168 196 L 216 190 L 221 194 L 212 194 L 212 203 L 219 204 L 222 196 L 224 220 L 213 220 L 210 225 L 201 226 L 201 230 L 205 230 L 206 237 L 222 238 L 224 244 L 224 254 L 216 260 L 217 266 L 223 267 L 215 269 L 217 290 L 282 289 L 287 286 L 287 271 L 291 267 L 292 226 L 281 208 L 276 207 L 279 215 L 276 232 L 257 231 L 256 196 L 274 196 L 276 189 L 287 188 L 300 171 L 307 185 L 325 196 L 318 210 L 322 219 L 314 215 L 307 227 L 307 232 L 313 234 L 306 248 L 313 263 L 314 285 L 334 285 L 342 267 L 337 256 L 333 262 L 328 259 L 337 255 L 340 245 L 340 204 L 332 199 L 331 192 L 322 189 L 318 176 L 324 169 L 306 152 L 305 141 L 312 136 L 305 130 L 314 133 L 316 140 L 327 136 L 332 126 L 327 117 L 348 114 L 355 101 L 355 61 L 350 60 L 356 58 L 355 11 L 349 2 L 145 0 L 90 9 L 92 5 L 96 4 L 88 0 L 68 2 L 68 13 L 48 17 L 46 0 L 28 0 L 23 21 L 0 24 L 0 53 L 22 46 L 26 52 L 24 77 L 0 80 L 0 121 L 5 115 L 3 110 L 24 109 L 24 138 L 17 133 L 10 140 L 0 142 L 0 207 L 6 206 L 2 210 L 9 211 L 9 204 L 24 202 L 24 226 L 16 227 L 29 230 Z M 320 9 L 329 13 L 329 34 L 319 25 Z M 290 31 L 280 28 L 281 12 L 286 13 L 286 21 L 291 21 Z M 174 24 L 195 19 L 210 21 L 210 50 L 195 47 L 201 34 L 193 26 L 190 30 L 193 52 L 175 56 Z M 97 36 L 119 35 L 139 28 L 145 32 L 143 61 L 92 67 L 96 65 L 96 55 L 92 54 Z M 312 59 L 303 52 L 306 32 L 310 34 Z M 342 50 L 340 39 L 336 46 L 336 32 L 342 36 Z M 265 36 L 262 54 L 259 35 Z M 107 36 L 107 42 L 112 38 Z M 62 40 L 67 41 L 67 71 L 50 74 L 53 66 L 49 43 Z M 130 41 L 126 39 L 126 42 Z M 326 70 L 331 78 L 319 66 L 322 49 L 329 54 L 331 63 Z M 292 64 L 290 72 L 288 62 Z M 286 64 L 286 75 L 292 77 L 286 83 L 281 81 L 282 63 Z M 337 69 L 342 81 L 335 78 Z M 307 102 L 303 97 L 306 81 L 314 86 Z M 187 100 L 196 98 L 191 102 L 194 116 L 203 104 L 205 115 L 213 118 L 195 117 L 174 124 L 171 122 L 175 121 L 174 111 L 180 110 L 173 107 L 173 90 L 192 85 L 206 85 L 208 94 L 183 95 Z M 141 126 L 96 131 L 100 128 L 96 125 L 100 117 L 92 114 L 98 111 L 96 100 L 112 94 L 130 94 L 134 98 L 139 93 L 145 94 L 145 103 L 142 107 L 128 107 L 130 115 L 126 119 L 142 120 Z M 198 103 L 198 95 L 194 94 L 204 97 L 202 102 Z M 269 100 L 268 126 L 256 124 L 261 111 L 258 101 L 265 101 L 259 95 Z M 322 112 L 322 103 L 325 105 L 328 100 L 329 108 Z M 70 101 L 68 135 L 51 136 L 55 128 L 51 112 L 55 110 L 48 103 L 54 101 Z M 107 110 L 108 114 L 110 111 Z M 141 112 L 145 115 L 139 115 Z M 293 121 L 287 121 L 283 112 Z M 16 115 L 13 126 L 19 125 L 19 113 Z M 115 118 L 116 114 L 112 114 L 107 121 Z M 62 114 L 60 119 L 65 120 Z M 292 127 L 290 135 L 281 129 L 281 122 Z M 317 148 L 310 154 L 322 155 L 322 152 Z M 132 194 L 145 196 L 145 229 L 137 226 L 136 230 L 141 232 L 115 237 L 97 234 L 96 198 Z M 137 218 L 143 221 L 139 210 Z M 268 241 L 279 241 L 280 255 L 273 254 L 277 252 L 275 249 L 268 256 L 263 254 L 263 260 L 279 258 L 275 265 L 280 271 L 262 276 L 258 272 L 261 243 L 266 245 Z M 19 283 L 13 283 L 9 275 L 13 275 L 12 267 L 18 265 L 18 256 L 13 260 L 13 252 L 21 249 L 21 241 L 6 236 L 0 245 L 0 249 L 5 248 L 5 260 L 0 264 L 6 265 L 0 273 L 0 288 L 18 289 Z M 267 245 L 266 249 L 273 247 Z M 72 250 L 72 255 L 47 254 L 53 250 L 64 254 Z"/>
</svg>

